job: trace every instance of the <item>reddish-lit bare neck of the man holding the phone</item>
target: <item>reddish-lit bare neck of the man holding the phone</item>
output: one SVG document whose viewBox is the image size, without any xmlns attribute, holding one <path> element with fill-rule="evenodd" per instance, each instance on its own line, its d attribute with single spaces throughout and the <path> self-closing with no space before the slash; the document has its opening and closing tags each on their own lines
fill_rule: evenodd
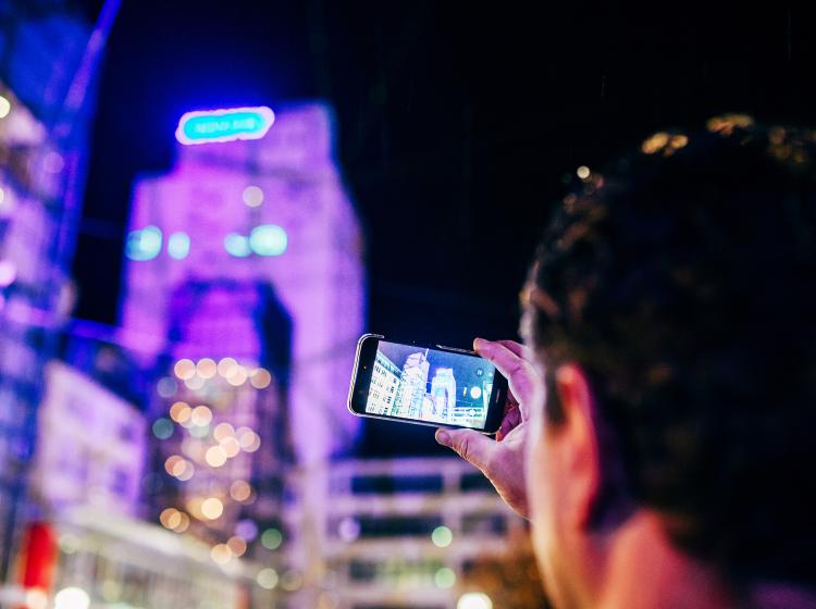
<svg viewBox="0 0 816 609">
<path fill-rule="evenodd" d="M 669 542 L 659 519 L 639 511 L 616 532 L 598 581 L 602 609 L 724 609 L 735 607 L 713 569 Z"/>
</svg>

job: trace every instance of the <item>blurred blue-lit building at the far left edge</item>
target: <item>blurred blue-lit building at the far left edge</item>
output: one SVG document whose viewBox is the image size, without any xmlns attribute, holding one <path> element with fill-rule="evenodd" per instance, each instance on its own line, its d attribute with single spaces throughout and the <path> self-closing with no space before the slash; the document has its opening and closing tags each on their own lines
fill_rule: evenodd
<svg viewBox="0 0 816 609">
<path fill-rule="evenodd" d="M 0 2 L 0 581 L 25 521 L 46 363 L 67 277 L 104 34 L 59 0 Z M 89 95 L 90 94 L 90 95 Z"/>
</svg>

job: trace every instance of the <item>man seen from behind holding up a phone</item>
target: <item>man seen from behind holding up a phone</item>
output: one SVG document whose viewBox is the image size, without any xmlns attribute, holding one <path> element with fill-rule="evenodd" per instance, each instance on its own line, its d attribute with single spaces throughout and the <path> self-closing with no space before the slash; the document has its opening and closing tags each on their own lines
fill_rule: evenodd
<svg viewBox="0 0 816 609">
<path fill-rule="evenodd" d="M 816 132 L 713 119 L 568 197 L 496 439 L 438 430 L 532 524 L 558 608 L 816 607 Z"/>
</svg>

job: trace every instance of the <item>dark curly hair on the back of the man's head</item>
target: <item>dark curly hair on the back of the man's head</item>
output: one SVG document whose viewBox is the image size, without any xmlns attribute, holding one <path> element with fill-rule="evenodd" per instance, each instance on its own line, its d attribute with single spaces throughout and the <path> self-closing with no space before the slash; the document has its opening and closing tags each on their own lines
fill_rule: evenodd
<svg viewBox="0 0 816 609">
<path fill-rule="evenodd" d="M 737 583 L 816 583 L 814 163 L 816 132 L 745 115 L 658 133 L 584 170 L 522 293 L 547 370 L 586 371 L 619 495 Z"/>
</svg>

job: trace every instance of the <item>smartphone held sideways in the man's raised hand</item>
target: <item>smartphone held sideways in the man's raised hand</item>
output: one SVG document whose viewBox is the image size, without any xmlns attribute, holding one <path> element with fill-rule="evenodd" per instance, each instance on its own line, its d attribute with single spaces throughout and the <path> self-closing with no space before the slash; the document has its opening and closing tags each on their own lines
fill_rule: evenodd
<svg viewBox="0 0 816 609">
<path fill-rule="evenodd" d="M 378 334 L 357 343 L 348 409 L 358 417 L 495 434 L 506 399 L 507 380 L 474 351 Z"/>
</svg>

